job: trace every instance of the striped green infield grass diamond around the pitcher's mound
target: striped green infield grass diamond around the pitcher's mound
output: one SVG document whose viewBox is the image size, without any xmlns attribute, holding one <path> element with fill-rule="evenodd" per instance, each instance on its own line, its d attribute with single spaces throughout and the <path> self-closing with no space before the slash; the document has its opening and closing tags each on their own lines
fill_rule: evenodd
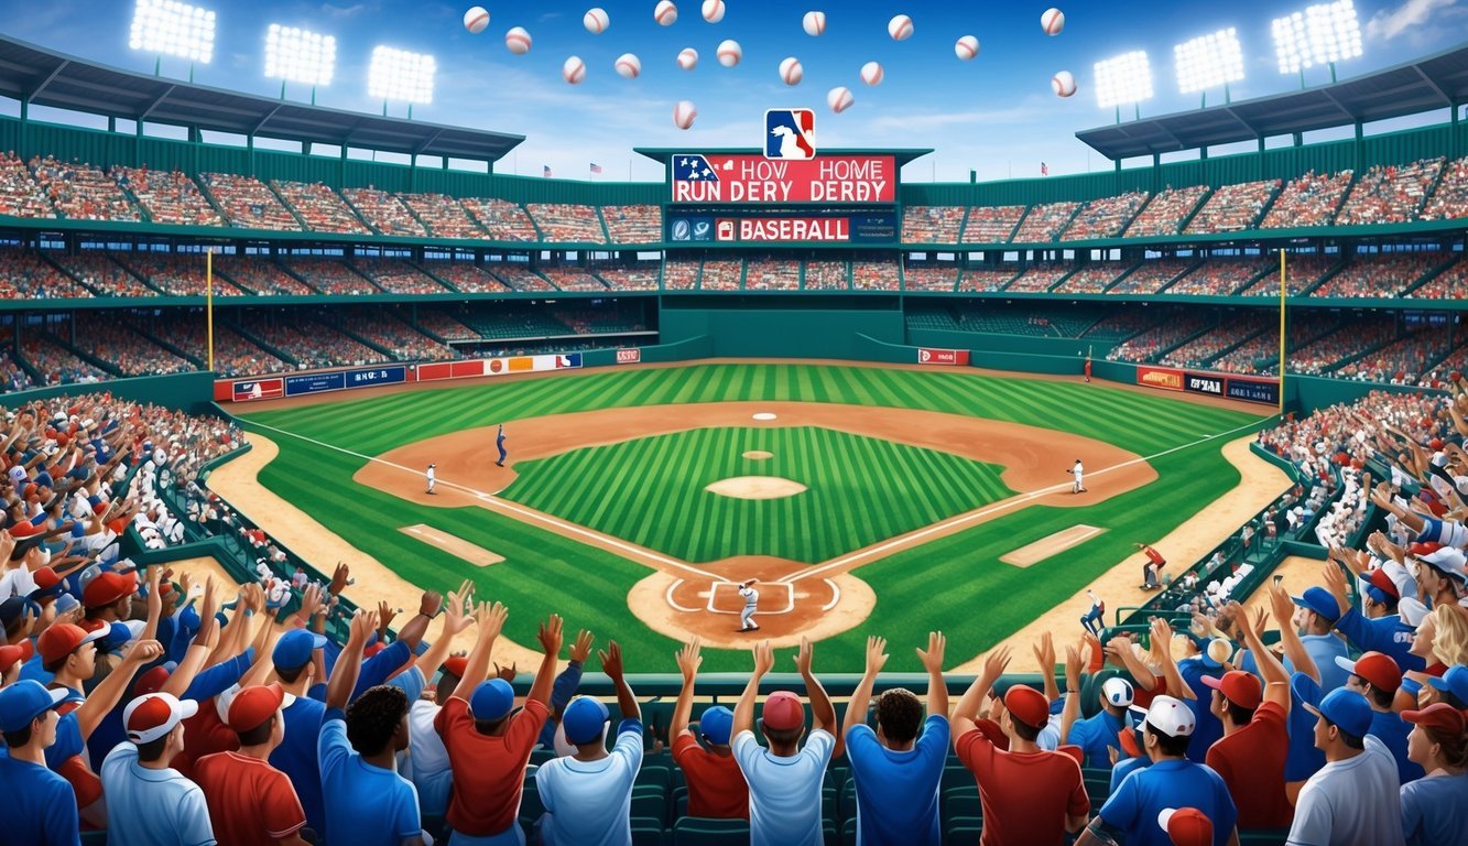
<svg viewBox="0 0 1468 846">
<path fill-rule="evenodd" d="M 741 455 L 762 449 L 774 457 Z M 501 496 L 690 563 L 816 564 L 1013 494 L 1004 469 L 812 426 L 691 429 L 517 461 Z M 705 488 L 778 476 L 807 491 L 734 499 Z M 574 485 L 567 485 L 574 479 Z"/>
</svg>

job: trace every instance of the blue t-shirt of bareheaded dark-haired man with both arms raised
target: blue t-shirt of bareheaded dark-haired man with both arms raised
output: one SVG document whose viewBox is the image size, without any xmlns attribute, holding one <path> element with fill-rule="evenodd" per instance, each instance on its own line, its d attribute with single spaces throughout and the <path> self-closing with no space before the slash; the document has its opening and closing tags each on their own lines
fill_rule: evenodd
<svg viewBox="0 0 1468 846">
<path fill-rule="evenodd" d="M 857 837 L 865 846 L 913 843 L 940 846 L 938 784 L 948 755 L 948 720 L 931 714 L 913 749 L 893 752 L 869 726 L 846 734 L 856 780 Z"/>
</svg>

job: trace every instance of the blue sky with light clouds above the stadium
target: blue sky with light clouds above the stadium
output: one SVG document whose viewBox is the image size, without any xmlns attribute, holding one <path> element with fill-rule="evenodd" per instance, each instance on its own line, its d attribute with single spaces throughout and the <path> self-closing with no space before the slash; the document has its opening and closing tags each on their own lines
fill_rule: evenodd
<svg viewBox="0 0 1468 846">
<path fill-rule="evenodd" d="M 367 62 L 373 46 L 433 53 L 439 63 L 435 101 L 415 106 L 414 118 L 526 135 L 518 154 L 502 172 L 539 175 L 549 164 L 556 176 L 587 178 L 589 163 L 605 167 L 602 179 L 661 179 L 662 170 L 631 153 L 633 147 L 753 147 L 760 142 L 768 107 L 813 106 L 819 112 L 818 141 L 824 147 L 932 147 L 935 154 L 909 164 L 906 181 L 981 181 L 1035 176 L 1039 162 L 1051 175 L 1108 167 L 1100 154 L 1075 138 L 1078 129 L 1111 122 L 1111 110 L 1097 107 L 1092 63 L 1129 50 L 1151 57 L 1155 98 L 1142 115 L 1198 107 L 1198 95 L 1177 93 L 1173 44 L 1236 26 L 1245 56 L 1245 79 L 1232 87 L 1235 100 L 1298 88 L 1282 76 L 1274 59 L 1270 19 L 1304 9 L 1307 0 L 1195 0 L 1160 4 L 1142 0 L 1060 3 L 1066 29 L 1047 37 L 1041 13 L 1053 0 L 998 3 L 806 0 L 784 4 L 728 0 L 721 24 L 708 24 L 697 0 L 678 0 L 678 21 L 658 26 L 655 0 L 586 0 L 581 3 L 484 1 L 492 19 L 482 35 L 464 31 L 461 18 L 471 3 L 435 0 L 200 0 L 214 9 L 219 40 L 214 60 L 200 66 L 203 84 L 277 95 L 279 82 L 264 78 L 264 31 L 270 22 L 305 26 L 338 40 L 336 81 L 317 101 L 351 110 L 380 112 L 367 97 Z M 581 15 L 599 4 L 611 26 L 592 35 Z M 825 35 L 812 38 L 800 26 L 807 9 L 828 15 Z M 0 0 L 7 35 L 134 70 L 153 70 L 153 57 L 128 50 L 131 0 Z M 1342 78 L 1396 65 L 1468 40 L 1468 0 L 1359 0 L 1365 56 L 1339 65 Z M 915 35 L 901 43 L 887 35 L 887 21 L 909 13 Z M 511 26 L 534 38 L 531 51 L 514 56 L 504 46 Z M 981 53 L 960 62 L 953 43 L 979 38 Z M 715 60 L 719 41 L 743 46 L 743 62 L 725 69 Z M 699 51 L 693 72 L 680 70 L 675 56 Z M 627 81 L 612 63 L 636 53 L 643 73 Z M 587 63 L 587 79 L 571 87 L 561 65 L 571 56 Z M 780 60 L 796 56 L 804 81 L 785 87 Z M 862 84 L 859 70 L 876 60 L 885 81 Z M 1063 100 L 1051 94 L 1057 70 L 1075 73 L 1079 91 Z M 185 76 L 182 60 L 164 59 L 166 76 Z M 1324 84 L 1323 68 L 1308 72 L 1308 84 Z M 825 107 L 835 85 L 851 88 L 856 106 L 843 115 Z M 292 85 L 288 97 L 308 91 Z M 691 100 L 699 119 L 691 131 L 672 125 L 672 106 Z M 1210 103 L 1221 100 L 1210 93 Z M 392 104 L 402 116 L 405 107 Z M 12 109 L 13 113 L 13 109 Z M 44 118 L 44 112 L 37 116 Z M 1437 116 L 1436 119 L 1446 119 Z M 1420 120 L 1421 122 L 1421 120 Z M 1431 120 L 1428 120 L 1431 122 Z M 1339 137 L 1339 135 L 1323 135 Z M 1220 154 L 1227 150 L 1216 150 Z"/>
</svg>

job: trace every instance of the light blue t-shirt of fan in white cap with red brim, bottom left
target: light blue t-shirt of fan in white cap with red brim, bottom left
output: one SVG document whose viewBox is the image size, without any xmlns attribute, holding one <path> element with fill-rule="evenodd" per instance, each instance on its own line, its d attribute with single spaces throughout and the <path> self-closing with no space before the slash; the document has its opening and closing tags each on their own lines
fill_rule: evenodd
<svg viewBox="0 0 1468 846">
<path fill-rule="evenodd" d="M 148 770 L 123 740 L 101 762 L 107 842 L 120 846 L 213 846 L 214 828 L 198 784 L 178 770 Z"/>
</svg>

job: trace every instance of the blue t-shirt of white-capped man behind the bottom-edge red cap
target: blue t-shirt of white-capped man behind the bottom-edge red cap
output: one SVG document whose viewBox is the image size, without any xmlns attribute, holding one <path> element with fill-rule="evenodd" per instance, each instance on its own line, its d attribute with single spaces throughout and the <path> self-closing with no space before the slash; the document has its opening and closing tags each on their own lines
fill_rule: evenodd
<svg viewBox="0 0 1468 846">
<path fill-rule="evenodd" d="M 1205 764 L 1158 761 L 1129 776 L 1101 806 L 1108 827 L 1126 831 L 1126 846 L 1171 846 L 1157 824 L 1167 808 L 1196 808 L 1213 821 L 1213 843 L 1224 846 L 1233 834 L 1238 811 L 1223 778 Z"/>
</svg>

